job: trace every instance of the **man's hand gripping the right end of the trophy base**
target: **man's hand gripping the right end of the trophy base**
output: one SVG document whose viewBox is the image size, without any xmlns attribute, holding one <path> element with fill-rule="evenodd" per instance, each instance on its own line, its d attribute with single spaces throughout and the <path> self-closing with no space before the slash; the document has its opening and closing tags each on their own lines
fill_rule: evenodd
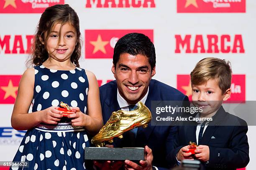
<svg viewBox="0 0 256 170">
<path fill-rule="evenodd" d="M 130 160 L 125 160 L 125 170 L 152 170 L 152 150 L 148 146 L 145 146 L 144 154 L 144 160 L 140 160 L 140 165 Z"/>
</svg>

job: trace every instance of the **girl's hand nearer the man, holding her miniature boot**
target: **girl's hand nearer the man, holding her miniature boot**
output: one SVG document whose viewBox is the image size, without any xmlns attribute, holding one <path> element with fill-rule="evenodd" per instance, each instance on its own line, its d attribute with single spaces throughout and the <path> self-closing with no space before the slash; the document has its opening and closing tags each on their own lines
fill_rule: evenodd
<svg viewBox="0 0 256 170">
<path fill-rule="evenodd" d="M 89 117 L 87 114 L 84 114 L 80 111 L 79 107 L 70 107 L 72 110 L 75 110 L 76 113 L 69 114 L 68 118 L 72 118 L 71 122 L 73 126 L 87 126 Z"/>
</svg>

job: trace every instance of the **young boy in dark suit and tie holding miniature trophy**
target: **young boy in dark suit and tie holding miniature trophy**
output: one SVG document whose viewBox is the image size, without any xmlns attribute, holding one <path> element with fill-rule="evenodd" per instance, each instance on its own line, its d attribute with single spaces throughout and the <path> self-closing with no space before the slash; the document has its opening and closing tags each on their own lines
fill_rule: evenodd
<svg viewBox="0 0 256 170">
<path fill-rule="evenodd" d="M 184 159 L 200 160 L 207 170 L 235 170 L 248 164 L 247 124 L 221 106 L 231 94 L 231 74 L 230 62 L 219 58 L 204 58 L 191 72 L 192 103 L 202 108 L 195 117 L 212 121 L 178 127 L 174 149 L 167 156 L 171 165 L 179 165 Z M 193 148 L 189 141 L 198 145 L 195 155 L 187 153 Z"/>
</svg>

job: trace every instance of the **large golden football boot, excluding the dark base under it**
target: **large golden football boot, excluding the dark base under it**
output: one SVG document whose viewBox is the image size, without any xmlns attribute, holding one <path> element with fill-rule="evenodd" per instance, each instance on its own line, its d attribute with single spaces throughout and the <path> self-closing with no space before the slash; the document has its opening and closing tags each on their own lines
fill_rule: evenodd
<svg viewBox="0 0 256 170">
<path fill-rule="evenodd" d="M 146 128 L 151 121 L 150 110 L 140 101 L 133 111 L 118 110 L 113 112 L 100 132 L 92 138 L 92 144 L 103 147 L 104 141 L 113 142 L 114 137 L 123 138 L 123 133 L 135 127 Z"/>
</svg>

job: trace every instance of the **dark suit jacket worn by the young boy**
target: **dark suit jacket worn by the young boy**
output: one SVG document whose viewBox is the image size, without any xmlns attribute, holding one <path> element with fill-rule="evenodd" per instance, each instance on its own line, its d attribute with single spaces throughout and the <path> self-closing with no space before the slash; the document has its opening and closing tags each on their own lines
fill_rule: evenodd
<svg viewBox="0 0 256 170">
<path fill-rule="evenodd" d="M 246 167 L 249 162 L 247 131 L 248 127 L 243 119 L 225 112 L 223 107 L 220 107 L 205 129 L 200 143 L 210 148 L 210 160 L 203 163 L 205 168 L 235 170 Z M 170 164 L 177 163 L 177 153 L 182 147 L 188 145 L 189 141 L 196 142 L 196 125 L 178 127 L 174 150 L 167 156 Z"/>
</svg>

